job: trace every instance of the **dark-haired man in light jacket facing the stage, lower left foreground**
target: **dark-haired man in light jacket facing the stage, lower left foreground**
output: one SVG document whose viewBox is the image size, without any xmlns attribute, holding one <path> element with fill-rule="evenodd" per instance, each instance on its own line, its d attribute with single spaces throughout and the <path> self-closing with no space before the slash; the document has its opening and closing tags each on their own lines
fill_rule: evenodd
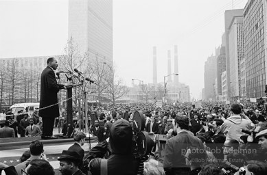
<svg viewBox="0 0 267 175">
<path fill-rule="evenodd" d="M 43 143 L 38 140 L 32 141 L 32 143 L 30 144 L 31 156 L 26 161 L 23 161 L 22 163 L 19 163 L 15 166 L 17 174 L 22 175 L 21 170 L 25 169 L 26 165 L 33 159 L 44 159 L 45 161 L 47 161 L 47 157 L 45 154 L 43 154 L 43 152 Z"/>
</svg>

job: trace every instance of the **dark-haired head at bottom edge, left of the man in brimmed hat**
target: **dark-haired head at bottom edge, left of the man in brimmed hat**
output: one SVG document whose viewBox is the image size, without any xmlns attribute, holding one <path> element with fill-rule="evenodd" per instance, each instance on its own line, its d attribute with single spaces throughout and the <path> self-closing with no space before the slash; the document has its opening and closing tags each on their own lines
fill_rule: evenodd
<svg viewBox="0 0 267 175">
<path fill-rule="evenodd" d="M 28 175 L 54 175 L 54 168 L 48 161 L 43 159 L 33 159 L 27 165 L 26 170 Z"/>
</svg>

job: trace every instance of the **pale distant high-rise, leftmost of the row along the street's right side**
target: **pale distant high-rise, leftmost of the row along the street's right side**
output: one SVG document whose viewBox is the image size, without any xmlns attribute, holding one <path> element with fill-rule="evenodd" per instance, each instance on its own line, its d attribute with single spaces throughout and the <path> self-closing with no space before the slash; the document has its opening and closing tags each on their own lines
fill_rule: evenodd
<svg viewBox="0 0 267 175">
<path fill-rule="evenodd" d="M 205 100 L 215 100 L 216 57 L 211 55 L 205 62 L 204 85 Z"/>
</svg>

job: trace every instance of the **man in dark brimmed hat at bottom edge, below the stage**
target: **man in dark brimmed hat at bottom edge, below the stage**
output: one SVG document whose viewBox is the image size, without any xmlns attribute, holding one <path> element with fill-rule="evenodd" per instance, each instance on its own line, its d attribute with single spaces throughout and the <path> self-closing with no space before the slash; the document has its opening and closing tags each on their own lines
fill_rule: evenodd
<svg viewBox="0 0 267 175">
<path fill-rule="evenodd" d="M 59 171 L 62 175 L 85 175 L 80 169 L 82 158 L 80 155 L 71 150 L 63 150 L 58 158 Z"/>
</svg>

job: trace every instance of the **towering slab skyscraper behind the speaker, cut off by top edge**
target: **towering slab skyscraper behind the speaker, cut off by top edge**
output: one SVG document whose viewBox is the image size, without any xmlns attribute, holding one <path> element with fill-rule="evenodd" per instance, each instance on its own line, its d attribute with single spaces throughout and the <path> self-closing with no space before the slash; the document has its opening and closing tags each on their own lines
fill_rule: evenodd
<svg viewBox="0 0 267 175">
<path fill-rule="evenodd" d="M 69 0 L 69 38 L 81 54 L 113 62 L 113 1 Z"/>
</svg>

